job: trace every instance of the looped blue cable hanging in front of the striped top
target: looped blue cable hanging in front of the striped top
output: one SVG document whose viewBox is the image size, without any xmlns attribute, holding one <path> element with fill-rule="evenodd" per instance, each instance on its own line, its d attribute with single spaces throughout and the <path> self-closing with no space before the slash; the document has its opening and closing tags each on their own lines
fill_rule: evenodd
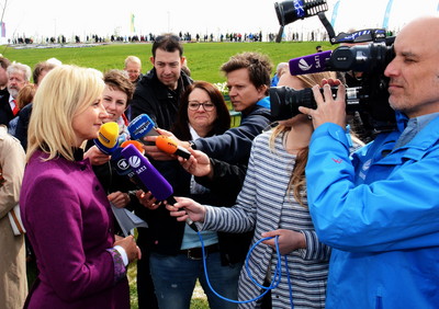
<svg viewBox="0 0 439 309">
<path fill-rule="evenodd" d="M 209 288 L 210 288 L 217 297 L 219 297 L 219 298 L 222 298 L 222 299 L 224 299 L 224 300 L 226 300 L 226 301 L 234 302 L 234 304 L 247 304 L 247 302 L 251 302 L 251 301 L 255 301 L 255 300 L 258 300 L 258 299 L 262 298 L 269 290 L 271 290 L 271 289 L 278 287 L 279 283 L 281 282 L 281 276 L 282 276 L 282 260 L 281 260 L 280 250 L 279 250 L 279 236 L 277 236 L 275 238 L 274 238 L 274 237 L 267 237 L 267 238 L 262 238 L 262 239 L 258 240 L 258 241 L 250 248 L 250 250 L 248 251 L 247 256 L 246 256 L 245 266 L 246 266 L 247 275 L 249 276 L 249 278 L 250 278 L 258 287 L 264 289 L 264 291 L 263 291 L 261 295 L 259 295 L 258 297 L 255 297 L 255 298 L 252 298 L 252 299 L 248 299 L 248 300 L 234 300 L 234 299 L 229 299 L 229 298 L 226 298 L 226 297 L 219 295 L 219 294 L 212 287 L 211 281 L 209 279 L 209 274 L 207 274 L 206 256 L 205 256 L 205 251 L 204 251 L 203 238 L 202 238 L 202 236 L 201 236 L 200 232 L 196 232 L 196 233 L 199 234 L 200 242 L 201 242 L 201 249 L 202 249 L 202 252 L 203 252 L 204 275 L 205 275 L 205 278 L 206 278 Z M 250 272 L 250 268 L 249 268 L 249 266 L 248 266 L 248 260 L 249 260 L 249 258 L 250 258 L 251 252 L 255 250 L 255 248 L 256 248 L 260 242 L 262 242 L 262 241 L 264 241 L 264 240 L 273 239 L 273 238 L 275 239 L 275 242 L 274 242 L 274 243 L 275 243 L 275 253 L 277 253 L 277 255 L 278 255 L 278 264 L 275 265 L 275 271 L 274 271 L 273 278 L 272 278 L 272 283 L 270 284 L 270 286 L 262 286 L 262 285 L 260 285 L 259 283 L 257 283 L 256 279 L 252 277 L 251 272 Z M 293 294 L 292 294 L 291 282 L 290 282 L 290 274 L 289 274 L 289 271 L 288 271 L 286 255 L 285 255 L 285 265 L 286 265 L 288 283 L 289 283 L 289 286 L 290 286 L 290 301 L 291 301 L 291 306 L 292 306 L 291 308 L 294 308 L 294 305 L 293 305 Z"/>
</svg>

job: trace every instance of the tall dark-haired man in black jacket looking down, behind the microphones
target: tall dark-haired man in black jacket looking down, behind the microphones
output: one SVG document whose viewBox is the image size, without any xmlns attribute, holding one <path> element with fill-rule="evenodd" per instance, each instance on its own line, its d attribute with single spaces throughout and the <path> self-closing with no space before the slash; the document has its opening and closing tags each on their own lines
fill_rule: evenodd
<svg viewBox="0 0 439 309">
<path fill-rule="evenodd" d="M 183 71 L 183 46 L 178 36 L 165 34 L 157 36 L 153 44 L 150 61 L 154 68 L 137 82 L 131 103 L 131 118 L 147 114 L 158 127 L 170 130 L 177 118 L 179 98 L 185 88 L 192 83 Z M 168 178 L 172 169 L 169 162 L 151 163 Z M 171 162 L 173 164 L 175 162 Z M 168 179 L 169 181 L 169 179 Z M 144 218 L 148 216 L 145 209 L 136 209 Z M 154 294 L 154 285 L 149 274 L 149 256 L 146 254 L 148 230 L 138 230 L 137 244 L 140 247 L 143 259 L 137 261 L 138 308 L 158 308 Z"/>
</svg>

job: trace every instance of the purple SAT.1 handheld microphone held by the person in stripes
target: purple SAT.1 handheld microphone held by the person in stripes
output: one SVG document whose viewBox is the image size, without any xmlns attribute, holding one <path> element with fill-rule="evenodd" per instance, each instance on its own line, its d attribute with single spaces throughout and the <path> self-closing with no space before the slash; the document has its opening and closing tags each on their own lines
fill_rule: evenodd
<svg viewBox="0 0 439 309">
<path fill-rule="evenodd" d="M 142 183 L 149 188 L 150 193 L 158 201 L 177 203 L 173 198 L 173 188 L 169 182 L 156 170 L 156 168 L 145 158 L 133 145 L 128 145 L 122 150 L 122 156 L 126 159 L 131 168 L 136 172 Z M 198 231 L 195 224 L 191 219 L 185 222 Z"/>
</svg>

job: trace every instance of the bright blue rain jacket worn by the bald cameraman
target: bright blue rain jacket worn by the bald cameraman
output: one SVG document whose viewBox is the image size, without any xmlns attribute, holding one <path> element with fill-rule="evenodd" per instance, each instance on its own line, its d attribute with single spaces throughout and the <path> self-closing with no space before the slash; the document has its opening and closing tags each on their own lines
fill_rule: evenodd
<svg viewBox="0 0 439 309">
<path fill-rule="evenodd" d="M 340 126 L 313 134 L 309 213 L 334 248 L 327 308 L 439 308 L 439 117 L 392 150 L 397 119 L 352 158 Z"/>
</svg>

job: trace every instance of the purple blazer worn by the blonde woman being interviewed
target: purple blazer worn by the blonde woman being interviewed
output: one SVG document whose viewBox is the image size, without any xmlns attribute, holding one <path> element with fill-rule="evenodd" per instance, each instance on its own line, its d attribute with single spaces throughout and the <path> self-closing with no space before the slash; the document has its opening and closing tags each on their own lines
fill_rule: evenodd
<svg viewBox="0 0 439 309">
<path fill-rule="evenodd" d="M 89 160 L 41 156 L 27 163 L 20 195 L 40 270 L 27 307 L 130 308 L 126 270 L 111 250 L 111 207 Z"/>
</svg>

